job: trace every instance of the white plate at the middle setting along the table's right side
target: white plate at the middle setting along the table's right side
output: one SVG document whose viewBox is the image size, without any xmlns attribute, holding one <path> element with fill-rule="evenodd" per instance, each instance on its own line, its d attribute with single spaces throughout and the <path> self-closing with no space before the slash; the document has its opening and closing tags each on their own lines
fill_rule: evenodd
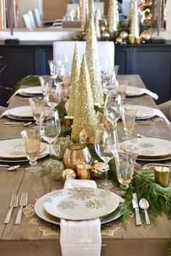
<svg viewBox="0 0 171 256">
<path fill-rule="evenodd" d="M 152 107 L 132 105 L 132 104 L 130 106 L 138 108 L 136 113 L 136 119 L 147 119 L 147 118 L 154 117 L 156 115 Z"/>
</svg>

